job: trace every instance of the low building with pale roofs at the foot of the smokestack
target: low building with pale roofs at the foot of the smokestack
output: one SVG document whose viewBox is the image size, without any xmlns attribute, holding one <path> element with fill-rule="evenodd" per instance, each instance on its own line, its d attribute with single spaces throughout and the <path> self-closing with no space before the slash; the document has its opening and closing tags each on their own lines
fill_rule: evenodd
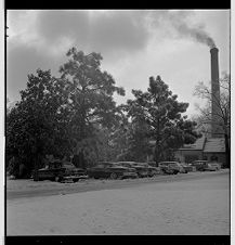
<svg viewBox="0 0 235 245">
<path fill-rule="evenodd" d="M 225 164 L 224 138 L 201 137 L 194 144 L 184 144 L 175 151 L 175 158 L 184 163 L 208 159 Z"/>
</svg>

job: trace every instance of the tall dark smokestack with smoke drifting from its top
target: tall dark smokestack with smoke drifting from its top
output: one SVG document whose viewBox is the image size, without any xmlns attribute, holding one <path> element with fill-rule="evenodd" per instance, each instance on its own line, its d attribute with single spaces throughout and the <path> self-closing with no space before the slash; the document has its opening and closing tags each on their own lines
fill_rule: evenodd
<svg viewBox="0 0 235 245">
<path fill-rule="evenodd" d="M 220 79 L 219 79 L 219 61 L 218 61 L 218 48 L 210 50 L 211 56 L 211 137 L 223 137 L 223 129 L 219 125 L 221 121 L 220 109 Z"/>
</svg>

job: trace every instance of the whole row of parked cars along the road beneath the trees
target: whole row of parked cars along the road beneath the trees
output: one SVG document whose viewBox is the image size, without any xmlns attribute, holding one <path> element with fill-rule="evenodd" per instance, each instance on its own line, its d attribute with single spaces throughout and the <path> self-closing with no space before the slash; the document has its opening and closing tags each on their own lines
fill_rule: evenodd
<svg viewBox="0 0 235 245">
<path fill-rule="evenodd" d="M 101 162 L 95 167 L 88 169 L 77 168 L 71 163 L 63 163 L 54 160 L 49 163 L 44 168 L 41 168 L 32 173 L 34 180 L 54 180 L 57 182 L 73 181 L 88 178 L 109 178 L 109 179 L 126 179 L 126 178 L 145 178 L 156 175 L 177 175 L 187 173 L 188 171 L 216 171 L 221 168 L 218 163 L 209 163 L 207 160 L 195 160 L 191 164 L 182 164 L 179 162 L 160 162 L 158 167 L 155 167 L 155 162 L 152 163 L 135 163 L 135 162 Z"/>
</svg>

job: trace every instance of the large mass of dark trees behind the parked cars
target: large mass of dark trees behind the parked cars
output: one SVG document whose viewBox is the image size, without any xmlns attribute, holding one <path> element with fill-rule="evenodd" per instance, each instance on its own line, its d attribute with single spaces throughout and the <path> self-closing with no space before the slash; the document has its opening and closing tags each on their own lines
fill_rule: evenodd
<svg viewBox="0 0 235 245">
<path fill-rule="evenodd" d="M 11 175 L 21 177 L 24 169 L 29 176 L 43 167 L 48 155 L 77 156 L 84 167 L 147 156 L 171 159 L 175 149 L 199 137 L 196 122 L 182 116 L 188 104 L 179 102 L 159 76 L 149 78 L 146 92 L 132 90 L 134 99 L 117 106 L 114 93 L 125 95 L 125 89 L 101 69 L 101 54 L 73 48 L 67 56 L 58 78 L 41 69 L 28 75 L 21 100 L 6 108 L 5 163 Z"/>
</svg>

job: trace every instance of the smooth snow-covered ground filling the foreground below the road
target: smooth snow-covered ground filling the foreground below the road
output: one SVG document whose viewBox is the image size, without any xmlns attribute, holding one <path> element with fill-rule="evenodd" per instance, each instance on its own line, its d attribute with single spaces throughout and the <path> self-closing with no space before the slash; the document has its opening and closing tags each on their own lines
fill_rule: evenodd
<svg viewBox="0 0 235 245">
<path fill-rule="evenodd" d="M 229 173 L 6 202 L 8 235 L 230 234 Z"/>
</svg>

